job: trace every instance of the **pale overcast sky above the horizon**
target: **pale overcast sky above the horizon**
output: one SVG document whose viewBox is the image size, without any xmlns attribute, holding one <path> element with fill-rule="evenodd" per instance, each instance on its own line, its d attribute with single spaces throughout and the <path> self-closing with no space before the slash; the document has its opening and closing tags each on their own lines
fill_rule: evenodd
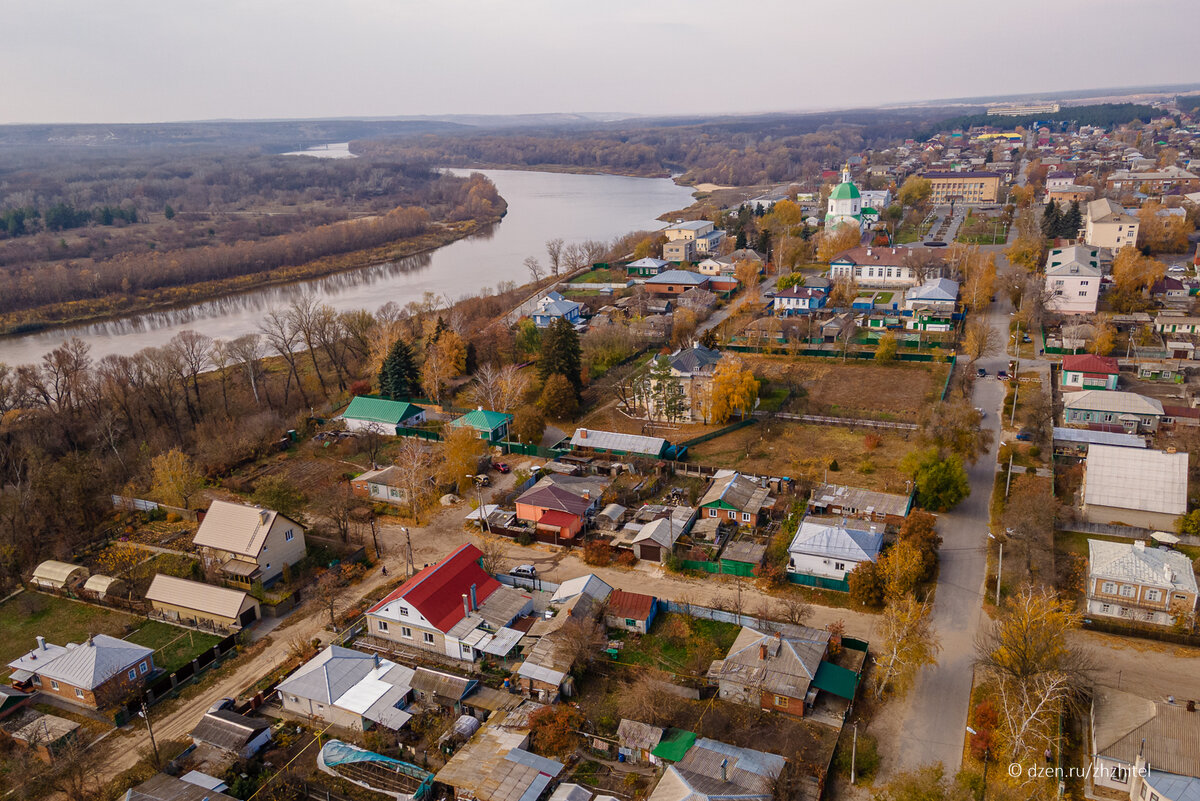
<svg viewBox="0 0 1200 801">
<path fill-rule="evenodd" d="M 719 114 L 1200 80 L 1196 0 L 36 0 L 0 124 Z"/>
</svg>

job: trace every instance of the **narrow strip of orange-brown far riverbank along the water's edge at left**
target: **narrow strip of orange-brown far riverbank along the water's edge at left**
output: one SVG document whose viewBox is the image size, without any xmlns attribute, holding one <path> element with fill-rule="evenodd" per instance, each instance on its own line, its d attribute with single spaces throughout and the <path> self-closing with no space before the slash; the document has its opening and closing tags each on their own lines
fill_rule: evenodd
<svg viewBox="0 0 1200 801">
<path fill-rule="evenodd" d="M 222 278 L 220 281 L 206 281 L 182 287 L 164 287 L 130 295 L 108 295 L 104 297 L 53 303 L 10 314 L 0 314 L 0 339 L 76 325 L 103 323 L 131 314 L 163 312 L 217 300 L 228 295 L 258 290 L 265 287 L 324 278 L 337 272 L 359 270 L 421 255 L 470 236 L 488 225 L 497 224 L 506 211 L 508 205 L 504 204 L 499 213 L 486 218 L 455 223 L 432 223 L 431 230 L 420 236 L 412 236 L 374 248 L 328 255 L 301 265 L 278 267 L 247 276 Z"/>
</svg>

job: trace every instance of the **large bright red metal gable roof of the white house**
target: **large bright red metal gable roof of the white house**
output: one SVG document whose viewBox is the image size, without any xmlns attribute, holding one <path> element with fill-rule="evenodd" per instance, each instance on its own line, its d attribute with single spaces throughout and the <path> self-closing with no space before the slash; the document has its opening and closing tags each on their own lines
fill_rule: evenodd
<svg viewBox="0 0 1200 801">
<path fill-rule="evenodd" d="M 392 590 L 388 597 L 371 607 L 367 614 L 403 598 L 433 624 L 434 628 L 440 632 L 450 631 L 466 616 L 462 596 L 470 594 L 472 584 L 475 585 L 475 601 L 480 604 L 500 589 L 500 583 L 479 566 L 482 555 L 484 552 L 470 543 L 461 546 L 442 561 L 430 565 Z"/>
</svg>

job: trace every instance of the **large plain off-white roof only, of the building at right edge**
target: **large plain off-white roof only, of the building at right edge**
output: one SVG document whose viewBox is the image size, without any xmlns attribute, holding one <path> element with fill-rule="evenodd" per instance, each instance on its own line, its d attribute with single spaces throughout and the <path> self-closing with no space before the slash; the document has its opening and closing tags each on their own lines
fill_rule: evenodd
<svg viewBox="0 0 1200 801">
<path fill-rule="evenodd" d="M 1092 445 L 1084 504 L 1183 514 L 1188 511 L 1188 454 Z"/>
</svg>

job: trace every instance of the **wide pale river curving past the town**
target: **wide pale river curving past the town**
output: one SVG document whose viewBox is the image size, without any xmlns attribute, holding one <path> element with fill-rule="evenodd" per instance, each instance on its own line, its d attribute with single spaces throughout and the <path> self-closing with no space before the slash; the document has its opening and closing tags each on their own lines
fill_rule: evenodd
<svg viewBox="0 0 1200 801">
<path fill-rule="evenodd" d="M 690 188 L 676 186 L 670 179 L 480 171 L 496 182 L 509 204 L 508 213 L 488 230 L 432 253 L 163 312 L 0 338 L 0 362 L 37 361 L 70 337 L 90 344 L 92 359 L 162 345 L 187 329 L 233 338 L 257 330 L 265 311 L 310 293 L 340 311 L 373 311 L 388 301 L 403 306 L 427 291 L 458 300 L 478 295 L 484 287 L 494 289 L 503 281 L 529 281 L 522 261 L 535 255 L 545 264 L 548 239 L 612 240 L 631 230 L 658 229 L 662 223 L 655 217 L 692 200 Z"/>
</svg>

